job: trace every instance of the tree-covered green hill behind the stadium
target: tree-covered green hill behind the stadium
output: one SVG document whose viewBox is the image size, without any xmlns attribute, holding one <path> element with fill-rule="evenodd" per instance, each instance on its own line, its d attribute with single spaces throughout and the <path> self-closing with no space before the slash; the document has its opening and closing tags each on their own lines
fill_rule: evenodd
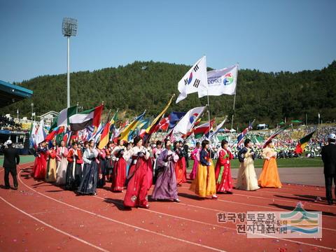
<svg viewBox="0 0 336 252">
<path fill-rule="evenodd" d="M 83 109 L 97 106 L 102 101 L 107 109 L 119 108 L 126 116 L 134 116 L 147 109 L 147 116 L 160 113 L 169 97 L 176 93 L 177 83 L 190 66 L 164 62 L 134 62 L 117 68 L 71 73 L 71 103 L 78 102 Z M 39 76 L 22 83 L 34 91 L 34 97 L 0 110 L 30 117 L 31 102 L 36 115 L 66 107 L 66 74 Z M 317 122 L 321 113 L 323 122 L 335 120 L 336 115 L 336 61 L 328 67 L 297 73 L 264 73 L 241 69 L 238 73 L 235 127 L 245 127 L 249 120 L 276 125 L 284 117 Z M 232 115 L 233 96 L 210 97 L 211 116 Z M 190 94 L 169 111 L 188 111 L 207 104 L 207 97 Z M 106 110 L 107 111 L 107 110 Z"/>
</svg>

